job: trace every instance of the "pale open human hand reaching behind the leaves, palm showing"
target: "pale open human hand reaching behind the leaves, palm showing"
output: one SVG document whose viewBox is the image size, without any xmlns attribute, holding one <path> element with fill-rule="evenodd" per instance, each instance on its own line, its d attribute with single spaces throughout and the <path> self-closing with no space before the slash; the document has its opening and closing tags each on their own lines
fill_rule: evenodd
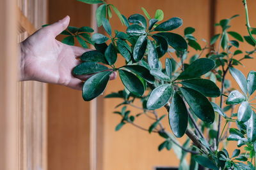
<svg viewBox="0 0 256 170">
<path fill-rule="evenodd" d="M 80 63 L 77 57 L 90 49 L 70 46 L 56 40 L 64 31 L 70 17 L 43 27 L 20 43 L 20 81 L 36 80 L 45 83 L 65 85 L 81 90 L 83 81 L 91 75 L 74 77 L 72 69 Z M 113 80 L 116 73 L 111 74 Z"/>
</svg>

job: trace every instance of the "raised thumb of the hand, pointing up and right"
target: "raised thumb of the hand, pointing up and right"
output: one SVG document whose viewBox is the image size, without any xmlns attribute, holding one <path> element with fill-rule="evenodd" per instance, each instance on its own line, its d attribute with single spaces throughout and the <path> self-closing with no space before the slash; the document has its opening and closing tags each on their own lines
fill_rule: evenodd
<svg viewBox="0 0 256 170">
<path fill-rule="evenodd" d="M 68 24 L 70 22 L 70 17 L 67 15 L 62 20 L 59 20 L 58 22 L 55 22 L 54 24 L 51 24 L 47 27 L 47 29 L 50 29 L 54 36 L 58 36 L 62 31 L 67 29 Z"/>
</svg>

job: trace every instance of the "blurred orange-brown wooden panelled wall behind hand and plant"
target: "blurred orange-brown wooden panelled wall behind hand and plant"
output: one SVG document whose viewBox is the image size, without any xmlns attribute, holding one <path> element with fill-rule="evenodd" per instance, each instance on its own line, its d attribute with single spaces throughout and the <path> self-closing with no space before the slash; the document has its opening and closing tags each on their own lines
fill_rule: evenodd
<svg viewBox="0 0 256 170">
<path fill-rule="evenodd" d="M 24 9 L 22 12 L 27 19 L 28 29 L 30 26 L 33 27 L 27 31 L 29 34 L 38 29 L 41 24 L 52 24 L 66 15 L 70 16 L 72 26 L 91 26 L 96 29 L 93 17 L 96 6 L 76 0 L 20 0 L 18 2 L 19 8 Z M 241 0 L 108 0 L 108 3 L 115 4 L 126 17 L 133 13 L 142 14 L 141 7 L 146 8 L 152 16 L 157 9 L 161 9 L 164 11 L 165 20 L 171 17 L 183 19 L 184 25 L 175 32 L 183 34 L 184 28 L 195 27 L 195 37 L 208 41 L 212 35 L 220 31 L 213 27 L 215 22 L 239 14 L 240 17 L 232 20 L 230 30 L 247 35 Z M 44 8 L 45 4 L 47 8 Z M 248 4 L 253 27 L 254 24 L 256 25 L 256 2 L 248 0 Z M 44 10 L 40 11 L 40 9 Z M 27 15 L 29 13 L 30 15 Z M 125 31 L 125 27 L 120 24 L 115 14 L 111 24 L 113 29 Z M 101 31 L 99 28 L 99 32 Z M 204 46 L 204 41 L 199 42 Z M 243 49 L 248 49 L 249 45 L 245 44 Z M 193 54 L 195 51 L 190 50 L 189 55 Z M 124 60 L 118 59 L 118 65 L 123 63 Z M 239 69 L 244 74 L 252 69 L 255 70 L 254 59 L 246 60 L 243 64 L 246 68 L 239 66 Z M 232 85 L 237 87 L 234 81 Z M 105 94 L 122 90 L 122 87 L 119 79 L 111 81 Z M 19 141 L 19 146 L 23 148 L 20 157 L 23 158 L 23 153 L 26 155 L 26 159 L 19 160 L 23 169 L 31 169 L 30 165 L 49 170 L 144 170 L 153 169 L 156 166 L 177 167 L 179 165 L 173 150 L 158 152 L 157 146 L 163 142 L 163 139 L 157 134 L 148 134 L 131 125 L 125 125 L 120 131 L 115 132 L 115 126 L 120 122 L 120 117 L 113 114 L 113 111 L 117 110 L 116 104 L 122 102 L 119 99 L 98 97 L 86 103 L 79 91 L 59 85 L 46 86 L 42 83 L 21 83 L 18 88 L 23 92 L 18 97 L 20 104 L 18 112 L 23 118 L 19 119 L 21 129 L 19 138 L 24 141 L 24 143 Z M 24 101 L 27 101 L 26 104 Z M 139 110 L 134 108 L 129 110 L 134 114 L 139 113 Z M 166 114 L 165 110 L 158 112 L 159 115 Z M 167 118 L 164 121 L 166 129 L 171 131 Z M 141 117 L 136 120 L 136 124 L 148 128 L 152 121 Z M 40 133 L 39 136 L 38 133 Z M 186 137 L 181 138 L 180 142 L 185 140 Z M 228 147 L 232 148 L 235 145 L 231 142 Z M 31 161 L 34 164 L 31 164 Z"/>
</svg>

